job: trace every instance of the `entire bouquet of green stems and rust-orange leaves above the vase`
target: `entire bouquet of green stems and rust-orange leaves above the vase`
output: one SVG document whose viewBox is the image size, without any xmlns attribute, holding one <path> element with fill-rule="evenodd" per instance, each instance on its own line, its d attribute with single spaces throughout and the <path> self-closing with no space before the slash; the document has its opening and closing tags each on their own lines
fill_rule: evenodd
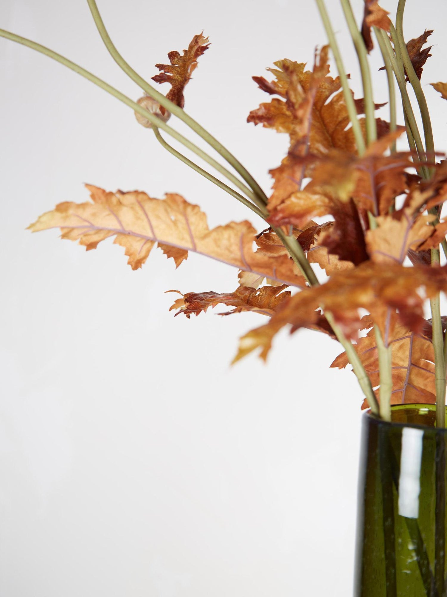
<svg viewBox="0 0 447 597">
<path fill-rule="evenodd" d="M 242 221 L 209 229 L 200 208 L 180 195 L 154 199 L 144 192 L 112 193 L 88 186 L 91 201 L 61 203 L 30 229 L 59 227 L 62 238 L 77 240 L 87 250 L 114 236 L 132 269 L 142 266 L 156 243 L 176 266 L 187 259 L 188 251 L 195 251 L 237 267 L 236 290 L 178 293 L 172 306 L 176 315 L 190 318 L 218 304 L 232 307 L 222 315 L 266 315 L 264 325 L 241 338 L 235 361 L 258 349 L 265 359 L 272 338 L 286 325 L 292 332 L 306 327 L 329 334 L 344 349 L 331 366 L 352 365 L 364 406 L 376 416 L 390 420 L 392 404 L 436 402 L 436 424 L 445 427 L 447 341 L 439 294 L 447 291 L 447 266 L 440 265 L 440 246 L 447 254 L 447 221 L 440 219 L 447 198 L 447 161 L 434 148 L 420 82 L 430 56 L 430 47 L 424 46 L 431 32 L 405 42 L 405 0 L 398 2 L 395 24 L 376 0 L 364 0 L 360 28 L 349 0 L 340 0 L 359 60 L 362 99 L 355 99 L 349 88 L 324 0 L 316 4 L 329 45 L 315 51 L 313 66 L 306 69 L 306 64 L 279 60 L 268 69 L 271 81 L 253 77 L 272 97 L 250 112 L 248 122 L 290 137 L 287 155 L 270 171 L 270 196 L 184 111 L 184 88 L 209 47 L 208 38 L 195 35 L 182 54 L 168 54 L 169 64 L 156 64 L 159 74 L 153 81 L 170 84 L 164 96 L 123 59 L 95 0 L 87 2 L 107 50 L 144 92 L 138 101 L 42 45 L 5 30 L 0 36 L 59 61 L 131 107 L 138 122 L 153 132 L 154 141 L 262 217 L 266 228 L 256 233 L 252 224 Z M 374 103 L 368 63 L 374 45 L 386 70 L 388 120 L 375 116 L 384 104 Z M 329 50 L 338 70 L 335 78 L 329 74 Z M 396 123 L 395 82 L 405 126 Z M 447 83 L 432 85 L 447 99 Z M 422 134 L 414 109 L 420 111 Z M 221 161 L 168 125 L 170 116 L 185 122 Z M 206 167 L 171 147 L 160 131 Z M 397 150 L 396 140 L 404 134 L 408 150 Z M 322 270 L 324 282 L 316 275 Z M 426 300 L 430 319 L 424 318 Z M 361 316 L 361 309 L 367 315 Z"/>
</svg>

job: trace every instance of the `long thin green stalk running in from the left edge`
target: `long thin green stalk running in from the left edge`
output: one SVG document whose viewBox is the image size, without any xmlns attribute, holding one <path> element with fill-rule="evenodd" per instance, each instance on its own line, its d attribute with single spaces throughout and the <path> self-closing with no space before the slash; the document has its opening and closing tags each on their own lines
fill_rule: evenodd
<svg viewBox="0 0 447 597">
<path fill-rule="evenodd" d="M 131 100 L 129 97 L 125 96 L 123 93 L 121 93 L 111 85 L 108 85 L 108 83 L 106 83 L 102 79 L 93 75 L 88 70 L 83 69 L 82 66 L 79 66 L 79 64 L 76 64 L 71 60 L 65 58 L 64 56 L 61 56 L 60 54 L 57 54 L 56 52 L 49 50 L 49 48 L 46 48 L 44 45 L 37 44 L 36 42 L 31 41 L 30 39 L 23 38 L 20 35 L 15 35 L 15 33 L 5 31 L 4 29 L 0 29 L 0 37 L 10 39 L 11 41 L 15 41 L 18 44 L 22 44 L 28 48 L 32 48 L 32 50 L 36 50 L 41 54 L 45 54 L 45 56 L 48 56 L 49 58 L 52 58 L 53 60 L 60 62 L 67 68 L 74 70 L 76 73 L 78 73 L 78 75 L 81 75 L 84 78 L 91 81 L 92 83 L 94 83 L 95 85 L 98 85 L 98 87 L 101 87 L 101 89 L 107 91 L 107 93 L 110 93 L 112 96 L 116 97 L 118 100 L 131 107 L 132 110 L 134 110 L 138 114 L 141 114 L 142 116 L 144 116 L 144 118 L 147 118 L 148 121 L 150 121 L 153 125 L 155 125 L 158 128 L 161 128 L 171 137 L 179 141 L 179 143 L 182 143 L 185 147 L 187 147 L 193 153 L 195 153 L 195 155 L 198 155 L 201 159 L 203 159 L 203 161 L 207 162 L 207 164 L 210 164 L 213 168 L 215 168 L 218 172 L 220 172 L 221 174 L 223 174 L 223 176 L 230 180 L 235 186 L 237 186 L 238 189 L 240 189 L 250 199 L 252 199 L 252 201 L 256 203 L 258 207 L 262 207 L 264 205 L 264 202 L 261 201 L 251 189 L 246 187 L 244 183 L 242 183 L 237 177 L 234 176 L 234 174 L 226 170 L 226 168 L 219 164 L 219 162 L 216 162 L 215 159 L 211 158 L 207 153 L 200 149 L 200 147 L 197 147 L 194 143 L 186 139 L 175 129 L 169 127 L 169 125 L 167 125 L 166 122 L 163 122 L 162 119 L 158 118 L 151 112 L 148 112 L 148 110 L 145 110 L 142 106 L 136 103 L 136 101 Z"/>
</svg>

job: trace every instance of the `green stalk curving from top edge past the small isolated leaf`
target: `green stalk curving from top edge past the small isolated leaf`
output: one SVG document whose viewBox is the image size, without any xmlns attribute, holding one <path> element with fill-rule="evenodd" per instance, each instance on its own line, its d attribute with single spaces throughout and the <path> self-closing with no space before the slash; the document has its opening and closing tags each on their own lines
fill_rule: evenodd
<svg viewBox="0 0 447 597">
<path fill-rule="evenodd" d="M 247 184 L 253 189 L 254 193 L 259 197 L 261 202 L 267 203 L 267 197 L 259 184 L 254 180 L 253 176 L 243 167 L 243 165 L 235 158 L 232 153 L 219 143 L 215 137 L 213 137 L 206 129 L 204 129 L 198 122 L 196 122 L 191 116 L 189 116 L 181 107 L 177 106 L 172 101 L 166 99 L 166 97 L 157 91 L 152 85 L 150 85 L 145 79 L 143 79 L 132 67 L 128 64 L 121 54 L 117 51 L 110 36 L 105 29 L 103 19 L 101 18 L 100 11 L 98 10 L 95 0 L 87 0 L 92 17 L 98 28 L 98 32 L 103 39 L 104 45 L 110 53 L 111 57 L 116 61 L 118 66 L 128 75 L 132 81 L 134 81 L 142 90 L 144 90 L 148 96 L 153 97 L 154 100 L 158 101 L 160 105 L 165 107 L 177 118 L 181 119 L 188 127 L 192 128 L 195 133 L 198 134 L 206 143 L 208 143 L 213 149 L 218 152 L 222 158 L 224 158 L 231 166 L 240 174 L 240 176 L 246 181 Z"/>
</svg>

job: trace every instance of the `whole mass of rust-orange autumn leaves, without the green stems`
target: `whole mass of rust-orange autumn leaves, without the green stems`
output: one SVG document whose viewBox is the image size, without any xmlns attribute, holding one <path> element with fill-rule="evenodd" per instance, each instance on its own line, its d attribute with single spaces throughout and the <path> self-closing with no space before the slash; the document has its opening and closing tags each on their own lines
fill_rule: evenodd
<svg viewBox="0 0 447 597">
<path fill-rule="evenodd" d="M 385 29 L 386 23 L 387 13 L 377 2 L 365 2 L 362 35 L 368 49 L 371 26 Z M 408 45 L 418 76 L 429 56 L 430 48 L 421 49 L 429 35 Z M 207 42 L 196 35 L 183 56 L 171 52 L 170 64 L 157 64 L 161 72 L 154 81 L 169 82 L 167 97 L 179 106 Z M 360 156 L 340 79 L 330 75 L 327 47 L 315 54 L 312 70 L 291 60 L 274 64 L 268 69 L 271 81 L 253 77 L 272 97 L 248 117 L 290 137 L 287 155 L 270 171 L 274 183 L 267 221 L 294 235 L 308 262 L 327 274 L 324 284 L 309 287 L 271 227 L 259 235 L 248 221 L 209 229 L 203 211 L 180 195 L 154 199 L 143 192 L 111 193 L 88 186 L 91 201 L 61 203 L 30 229 L 59 227 L 62 238 L 77 240 L 87 250 L 113 236 L 115 244 L 125 247 L 132 269 L 145 263 L 155 244 L 177 267 L 189 251 L 228 263 L 239 270 L 235 291 L 179 293 L 172 309 L 190 318 L 221 304 L 232 307 L 222 315 L 265 315 L 264 325 L 241 338 L 235 361 L 253 350 L 265 359 L 284 326 L 334 336 L 324 316 L 330 312 L 355 343 L 374 387 L 379 384 L 375 333 L 380 330 L 384 345 L 392 347 L 392 402 L 434 402 L 431 324 L 423 306 L 427 297 L 447 291 L 447 266 L 430 264 L 430 250 L 447 230 L 447 221 L 439 217 L 447 198 L 447 162 L 436 163 L 432 156 L 433 176 L 421 179 L 421 164 L 411 152 L 390 149 L 404 128 L 390 131 L 380 118 L 377 141 Z M 447 84 L 433 86 L 447 99 Z M 355 106 L 365 130 L 364 101 L 355 100 Z M 317 217 L 324 221 L 315 221 Z M 362 317 L 361 310 L 368 315 Z M 359 335 L 361 330 L 366 336 Z M 333 367 L 347 363 L 343 353 Z"/>
</svg>

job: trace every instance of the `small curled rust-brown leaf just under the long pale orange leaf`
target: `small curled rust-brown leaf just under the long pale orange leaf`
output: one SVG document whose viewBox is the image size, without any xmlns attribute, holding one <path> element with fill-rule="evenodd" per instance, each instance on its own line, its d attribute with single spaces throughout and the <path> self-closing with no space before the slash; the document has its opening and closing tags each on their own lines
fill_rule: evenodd
<svg viewBox="0 0 447 597">
<path fill-rule="evenodd" d="M 253 311 L 271 317 L 283 300 L 291 295 L 288 290 L 283 292 L 285 288 L 287 288 L 287 286 L 284 284 L 277 287 L 264 286 L 257 290 L 247 286 L 240 286 L 234 293 L 229 294 L 219 294 L 214 292 L 187 293 L 182 295 L 183 298 L 176 300 L 172 307 L 170 307 L 170 310 L 179 309 L 176 315 L 184 313 L 189 319 L 193 314 L 198 315 L 202 311 L 206 311 L 208 307 L 215 307 L 218 304 L 226 304 L 235 308 L 226 313 L 219 313 L 219 315 L 231 315 L 231 313 L 239 313 L 241 311 Z"/>
</svg>

